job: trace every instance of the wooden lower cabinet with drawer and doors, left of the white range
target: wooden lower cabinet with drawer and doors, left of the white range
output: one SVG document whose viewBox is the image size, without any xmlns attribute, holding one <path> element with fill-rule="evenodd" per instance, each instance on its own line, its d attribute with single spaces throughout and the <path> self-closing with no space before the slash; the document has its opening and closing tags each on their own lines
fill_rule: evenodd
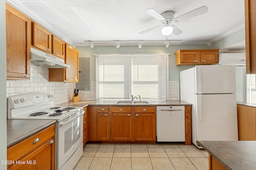
<svg viewBox="0 0 256 170">
<path fill-rule="evenodd" d="M 24 139 L 7 149 L 8 170 L 35 170 L 55 168 L 55 125 Z M 17 162 L 20 163 L 17 163 Z"/>
</svg>

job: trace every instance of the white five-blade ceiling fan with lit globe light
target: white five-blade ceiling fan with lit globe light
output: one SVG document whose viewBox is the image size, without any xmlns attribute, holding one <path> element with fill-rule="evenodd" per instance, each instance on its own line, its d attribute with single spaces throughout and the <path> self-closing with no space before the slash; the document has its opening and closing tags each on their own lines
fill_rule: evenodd
<svg viewBox="0 0 256 170">
<path fill-rule="evenodd" d="M 201 14 L 205 14 L 207 11 L 208 11 L 207 6 L 201 6 L 199 8 L 196 8 L 190 12 L 187 12 L 185 14 L 182 14 L 181 16 L 174 18 L 174 12 L 172 12 L 172 11 L 166 11 L 162 14 L 159 14 L 153 8 L 146 9 L 145 12 L 148 13 L 150 16 L 156 18 L 157 20 L 161 21 L 162 25 L 158 25 L 158 26 L 152 27 L 150 29 L 146 29 L 145 31 L 140 32 L 139 34 L 144 34 L 149 31 L 152 31 L 158 27 L 162 27 L 163 35 L 167 36 L 167 35 L 170 35 L 171 33 L 174 33 L 175 35 L 180 35 L 181 33 L 183 33 L 183 31 L 181 31 L 175 25 L 171 25 L 172 22 L 179 22 L 182 20 L 186 20 L 188 18 L 199 16 Z"/>
</svg>

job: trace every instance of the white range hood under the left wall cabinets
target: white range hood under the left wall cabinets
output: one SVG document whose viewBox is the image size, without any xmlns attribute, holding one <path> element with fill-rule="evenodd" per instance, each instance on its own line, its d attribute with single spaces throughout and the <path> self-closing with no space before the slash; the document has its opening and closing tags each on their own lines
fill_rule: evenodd
<svg viewBox="0 0 256 170">
<path fill-rule="evenodd" d="M 70 68 L 70 65 L 65 64 L 63 59 L 32 47 L 30 48 L 30 64 L 46 68 Z"/>
</svg>

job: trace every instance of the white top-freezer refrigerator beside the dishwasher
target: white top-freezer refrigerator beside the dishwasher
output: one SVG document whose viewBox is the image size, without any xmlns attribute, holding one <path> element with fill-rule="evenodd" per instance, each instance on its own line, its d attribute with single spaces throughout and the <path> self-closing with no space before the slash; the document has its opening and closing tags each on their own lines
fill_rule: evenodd
<svg viewBox="0 0 256 170">
<path fill-rule="evenodd" d="M 181 71 L 180 100 L 192 104 L 194 145 L 199 147 L 196 141 L 238 141 L 234 65 L 202 65 Z"/>
</svg>

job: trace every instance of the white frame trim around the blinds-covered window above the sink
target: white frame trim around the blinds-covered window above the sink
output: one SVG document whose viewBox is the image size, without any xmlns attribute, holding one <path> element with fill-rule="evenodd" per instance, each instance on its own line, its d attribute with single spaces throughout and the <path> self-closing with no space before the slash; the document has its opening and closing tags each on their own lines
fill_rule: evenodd
<svg viewBox="0 0 256 170">
<path fill-rule="evenodd" d="M 165 55 L 165 86 L 166 86 L 166 92 L 165 92 L 165 100 L 168 100 L 169 96 L 169 56 L 170 53 L 160 53 L 160 54 L 94 54 L 96 62 L 95 62 L 95 74 L 96 74 L 96 100 L 99 100 L 99 56 L 100 55 Z M 112 99 L 113 100 L 113 99 Z"/>
</svg>

